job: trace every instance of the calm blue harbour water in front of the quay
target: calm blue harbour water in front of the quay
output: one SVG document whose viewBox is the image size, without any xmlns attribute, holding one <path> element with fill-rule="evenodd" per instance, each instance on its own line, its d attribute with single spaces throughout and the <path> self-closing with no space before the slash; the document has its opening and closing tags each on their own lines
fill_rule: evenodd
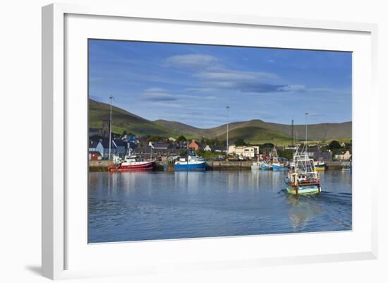
<svg viewBox="0 0 388 283">
<path fill-rule="evenodd" d="M 289 195 L 280 171 L 91 172 L 89 242 L 351 230 L 351 174 Z"/>
</svg>

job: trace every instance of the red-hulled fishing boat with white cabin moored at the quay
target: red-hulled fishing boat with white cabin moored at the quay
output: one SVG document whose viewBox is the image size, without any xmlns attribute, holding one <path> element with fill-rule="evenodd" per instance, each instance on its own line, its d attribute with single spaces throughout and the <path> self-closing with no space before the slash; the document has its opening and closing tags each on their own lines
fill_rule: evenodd
<svg viewBox="0 0 388 283">
<path fill-rule="evenodd" d="M 155 160 L 143 160 L 136 155 L 126 155 L 122 160 L 120 157 L 113 158 L 113 164 L 108 167 L 108 171 L 141 171 L 152 170 L 155 167 Z"/>
</svg>

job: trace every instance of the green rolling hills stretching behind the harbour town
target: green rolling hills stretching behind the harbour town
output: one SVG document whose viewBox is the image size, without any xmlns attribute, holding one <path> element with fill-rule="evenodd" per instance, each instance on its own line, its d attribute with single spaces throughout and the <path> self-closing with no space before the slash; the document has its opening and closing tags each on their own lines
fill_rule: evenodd
<svg viewBox="0 0 388 283">
<path fill-rule="evenodd" d="M 177 121 L 150 121 L 119 107 L 112 107 L 112 124 L 115 133 L 132 132 L 138 136 L 164 136 L 166 138 L 217 138 L 226 140 L 226 125 L 214 128 L 196 128 Z M 90 127 L 99 128 L 103 119 L 109 119 L 109 104 L 89 100 Z M 351 122 L 308 125 L 308 140 L 350 140 Z M 250 143 L 286 144 L 291 142 L 291 125 L 267 123 L 256 119 L 229 124 L 229 138 L 243 138 Z M 294 138 L 305 138 L 305 125 L 294 126 Z"/>
</svg>

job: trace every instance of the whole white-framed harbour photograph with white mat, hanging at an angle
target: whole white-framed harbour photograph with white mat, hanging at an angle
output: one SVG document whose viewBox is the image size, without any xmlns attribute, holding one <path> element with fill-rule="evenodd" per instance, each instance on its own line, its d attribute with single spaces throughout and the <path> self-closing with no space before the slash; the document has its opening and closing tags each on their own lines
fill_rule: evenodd
<svg viewBox="0 0 388 283">
<path fill-rule="evenodd" d="M 45 6 L 43 275 L 376 258 L 376 32 Z"/>
</svg>

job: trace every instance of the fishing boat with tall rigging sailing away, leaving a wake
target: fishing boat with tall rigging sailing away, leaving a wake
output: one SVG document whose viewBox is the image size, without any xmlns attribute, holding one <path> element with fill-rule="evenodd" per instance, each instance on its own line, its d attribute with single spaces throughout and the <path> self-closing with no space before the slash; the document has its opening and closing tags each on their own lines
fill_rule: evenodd
<svg viewBox="0 0 388 283">
<path fill-rule="evenodd" d="M 320 177 L 315 170 L 314 160 L 308 157 L 306 149 L 296 150 L 293 155 L 293 167 L 286 177 L 287 191 L 298 195 L 303 193 L 320 193 Z"/>
</svg>

